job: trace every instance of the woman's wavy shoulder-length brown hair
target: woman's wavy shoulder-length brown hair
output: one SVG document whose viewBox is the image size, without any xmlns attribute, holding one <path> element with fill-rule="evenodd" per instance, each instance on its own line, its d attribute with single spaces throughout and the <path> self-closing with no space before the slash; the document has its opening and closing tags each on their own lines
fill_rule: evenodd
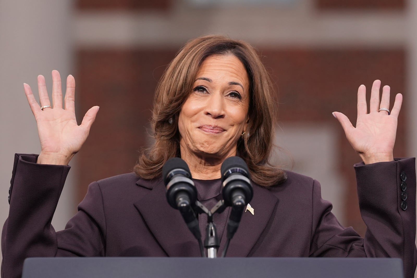
<svg viewBox="0 0 417 278">
<path fill-rule="evenodd" d="M 286 179 L 285 172 L 269 163 L 277 105 L 269 73 L 249 43 L 220 35 L 188 41 L 166 68 L 154 98 L 151 127 L 155 142 L 139 157 L 136 174 L 143 179 L 156 178 L 168 159 L 181 157 L 178 115 L 193 89 L 201 63 L 211 55 L 234 55 L 246 68 L 251 96 L 249 123 L 237 143 L 237 155 L 248 164 L 256 184 L 279 184 Z"/>
</svg>

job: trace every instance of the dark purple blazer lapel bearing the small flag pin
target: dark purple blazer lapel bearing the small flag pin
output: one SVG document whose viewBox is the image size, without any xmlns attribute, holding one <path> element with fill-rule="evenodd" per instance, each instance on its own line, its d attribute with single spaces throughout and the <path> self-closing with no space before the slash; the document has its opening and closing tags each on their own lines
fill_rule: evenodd
<svg viewBox="0 0 417 278">
<path fill-rule="evenodd" d="M 239 228 L 230 241 L 226 253 L 227 257 L 248 256 L 269 222 L 269 218 L 274 214 L 273 211 L 277 201 L 278 199 L 268 189 L 254 185 L 254 197 L 249 202 L 252 208 L 254 208 L 254 215 L 249 211 L 243 212 Z M 226 245 L 226 229 L 227 224 L 221 239 L 219 254 L 221 254 Z"/>
</svg>

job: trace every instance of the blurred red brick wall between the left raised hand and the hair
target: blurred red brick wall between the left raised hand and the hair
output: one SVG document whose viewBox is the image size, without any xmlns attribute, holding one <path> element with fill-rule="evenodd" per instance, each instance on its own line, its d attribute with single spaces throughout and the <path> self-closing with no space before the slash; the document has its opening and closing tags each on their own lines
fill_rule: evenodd
<svg viewBox="0 0 417 278">
<path fill-rule="evenodd" d="M 80 50 L 77 53 L 77 119 L 100 106 L 88 140 L 77 155 L 80 190 L 133 170 L 146 146 L 153 93 L 175 51 Z M 150 133 L 150 132 L 149 132 Z"/>
</svg>

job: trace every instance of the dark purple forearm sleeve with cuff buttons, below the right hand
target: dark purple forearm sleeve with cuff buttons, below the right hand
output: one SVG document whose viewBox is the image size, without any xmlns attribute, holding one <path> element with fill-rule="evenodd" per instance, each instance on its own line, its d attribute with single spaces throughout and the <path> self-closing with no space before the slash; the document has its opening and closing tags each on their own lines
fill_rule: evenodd
<svg viewBox="0 0 417 278">
<path fill-rule="evenodd" d="M 356 164 L 355 171 L 359 208 L 367 225 L 364 238 L 366 255 L 401 258 L 404 276 L 414 277 L 417 263 L 414 259 L 417 255 L 415 159 Z M 406 203 L 402 199 L 402 173 L 407 184 Z"/>
</svg>

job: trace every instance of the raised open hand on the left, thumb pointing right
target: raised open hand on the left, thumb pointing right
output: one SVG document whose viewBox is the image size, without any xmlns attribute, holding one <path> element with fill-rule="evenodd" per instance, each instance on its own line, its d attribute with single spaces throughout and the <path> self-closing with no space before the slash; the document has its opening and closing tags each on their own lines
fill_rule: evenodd
<svg viewBox="0 0 417 278">
<path fill-rule="evenodd" d="M 95 120 L 98 106 L 91 107 L 80 125 L 75 119 L 75 79 L 67 78 L 64 107 L 62 107 L 61 77 L 57 70 L 52 71 L 52 105 L 46 90 L 45 77 L 38 76 L 39 102 L 33 96 L 28 84 L 23 84 L 30 109 L 38 125 L 41 151 L 37 163 L 67 165 L 84 144 Z M 46 107 L 43 110 L 42 106 Z"/>
</svg>

